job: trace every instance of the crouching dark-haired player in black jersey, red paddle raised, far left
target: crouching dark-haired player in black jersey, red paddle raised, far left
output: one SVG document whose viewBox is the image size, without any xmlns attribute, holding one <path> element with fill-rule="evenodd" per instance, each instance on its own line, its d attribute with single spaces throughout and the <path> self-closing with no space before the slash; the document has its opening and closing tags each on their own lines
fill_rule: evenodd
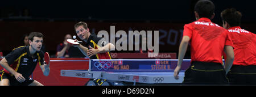
<svg viewBox="0 0 256 97">
<path fill-rule="evenodd" d="M 30 78 L 37 64 L 45 76 L 49 75 L 49 64 L 45 64 L 44 53 L 41 50 L 43 34 L 31 32 L 28 39 L 30 45 L 15 48 L 0 61 L 0 65 L 4 68 L 0 71 L 0 86 L 42 86 L 41 83 Z"/>
</svg>

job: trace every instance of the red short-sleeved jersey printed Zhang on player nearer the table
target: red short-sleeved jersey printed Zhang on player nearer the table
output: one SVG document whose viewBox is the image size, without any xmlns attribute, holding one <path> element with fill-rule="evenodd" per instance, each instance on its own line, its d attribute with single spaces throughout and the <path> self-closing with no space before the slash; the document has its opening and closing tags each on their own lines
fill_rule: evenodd
<svg viewBox="0 0 256 97">
<path fill-rule="evenodd" d="M 208 18 L 185 24 L 183 36 L 191 40 L 191 61 L 217 62 L 222 64 L 225 45 L 233 47 L 232 40 L 225 28 L 212 23 Z"/>
</svg>

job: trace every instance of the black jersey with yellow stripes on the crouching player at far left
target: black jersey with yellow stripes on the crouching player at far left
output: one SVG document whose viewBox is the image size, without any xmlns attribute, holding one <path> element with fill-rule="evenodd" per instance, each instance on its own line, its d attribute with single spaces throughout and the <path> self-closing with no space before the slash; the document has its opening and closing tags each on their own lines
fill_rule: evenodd
<svg viewBox="0 0 256 97">
<path fill-rule="evenodd" d="M 13 52 L 7 54 L 5 58 L 11 68 L 22 74 L 22 76 L 27 79 L 33 73 L 38 62 L 39 65 L 42 65 L 44 62 L 44 53 L 42 50 L 40 52 L 36 52 L 33 56 L 33 58 L 30 56 L 29 46 L 22 46 L 14 49 Z M 9 71 L 6 69 L 4 70 L 5 73 L 10 74 Z"/>
</svg>

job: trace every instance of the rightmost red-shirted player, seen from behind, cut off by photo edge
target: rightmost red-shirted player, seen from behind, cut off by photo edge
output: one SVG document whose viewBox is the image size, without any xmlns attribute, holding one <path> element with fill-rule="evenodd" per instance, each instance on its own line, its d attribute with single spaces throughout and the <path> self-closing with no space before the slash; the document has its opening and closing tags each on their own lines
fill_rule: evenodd
<svg viewBox="0 0 256 97">
<path fill-rule="evenodd" d="M 256 35 L 240 27 L 242 14 L 236 9 L 222 11 L 221 18 L 234 45 L 234 62 L 227 75 L 230 84 L 256 85 Z"/>
</svg>

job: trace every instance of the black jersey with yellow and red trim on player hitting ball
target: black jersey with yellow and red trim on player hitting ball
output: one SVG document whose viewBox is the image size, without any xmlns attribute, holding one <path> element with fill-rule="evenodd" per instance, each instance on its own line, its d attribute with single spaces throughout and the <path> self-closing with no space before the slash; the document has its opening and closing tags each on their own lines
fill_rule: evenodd
<svg viewBox="0 0 256 97">
<path fill-rule="evenodd" d="M 98 49 L 104 47 L 104 45 L 108 44 L 103 38 L 97 37 L 95 34 L 91 34 L 85 44 L 85 47 L 89 49 L 89 46 Z M 111 59 L 110 53 L 98 53 L 90 57 L 90 59 Z"/>
</svg>

